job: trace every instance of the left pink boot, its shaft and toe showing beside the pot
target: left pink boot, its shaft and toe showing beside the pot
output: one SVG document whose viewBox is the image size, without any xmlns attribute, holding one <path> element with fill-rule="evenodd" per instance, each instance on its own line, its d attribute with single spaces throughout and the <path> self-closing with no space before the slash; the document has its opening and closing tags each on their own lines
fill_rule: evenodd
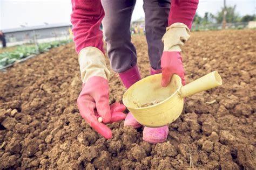
<svg viewBox="0 0 256 170">
<path fill-rule="evenodd" d="M 138 66 L 134 66 L 125 72 L 119 73 L 119 76 L 126 88 L 129 88 L 132 86 L 132 84 L 141 79 Z M 124 120 L 124 126 L 132 126 L 134 129 L 138 129 L 142 125 L 139 124 L 139 122 L 137 122 L 136 119 L 132 116 L 131 112 L 129 112 Z"/>
</svg>

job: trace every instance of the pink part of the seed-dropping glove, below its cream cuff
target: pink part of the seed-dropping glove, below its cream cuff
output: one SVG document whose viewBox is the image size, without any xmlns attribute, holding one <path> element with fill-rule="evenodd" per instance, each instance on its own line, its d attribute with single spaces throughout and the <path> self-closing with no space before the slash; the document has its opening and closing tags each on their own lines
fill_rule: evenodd
<svg viewBox="0 0 256 170">
<path fill-rule="evenodd" d="M 109 85 L 107 80 L 100 76 L 93 76 L 83 84 L 77 105 L 85 121 L 107 139 L 112 138 L 112 131 L 105 123 L 121 121 L 126 116 L 123 113 L 123 104 L 109 105 Z M 102 117 L 103 123 L 98 122 L 98 117 Z"/>
</svg>

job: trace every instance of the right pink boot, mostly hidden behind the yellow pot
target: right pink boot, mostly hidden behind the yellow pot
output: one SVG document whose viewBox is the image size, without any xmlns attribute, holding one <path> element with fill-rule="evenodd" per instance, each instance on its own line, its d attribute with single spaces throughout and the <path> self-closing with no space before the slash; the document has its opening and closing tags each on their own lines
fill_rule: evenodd
<svg viewBox="0 0 256 170">
<path fill-rule="evenodd" d="M 161 69 L 155 70 L 153 68 L 150 69 L 150 74 L 159 74 L 161 73 Z M 143 130 L 143 140 L 151 143 L 157 144 L 162 143 L 167 139 L 169 132 L 168 126 L 163 126 L 160 128 L 147 128 L 145 127 Z"/>
</svg>

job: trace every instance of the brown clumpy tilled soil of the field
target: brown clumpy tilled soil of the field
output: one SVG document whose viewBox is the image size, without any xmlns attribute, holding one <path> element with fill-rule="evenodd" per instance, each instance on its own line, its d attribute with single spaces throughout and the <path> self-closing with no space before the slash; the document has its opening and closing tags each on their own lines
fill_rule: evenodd
<svg viewBox="0 0 256 170">
<path fill-rule="evenodd" d="M 146 39 L 132 41 L 145 77 Z M 0 169 L 256 169 L 255 42 L 256 30 L 192 33 L 182 53 L 186 82 L 218 70 L 223 86 L 187 97 L 167 141 L 156 145 L 124 122 L 109 124 L 106 140 L 80 117 L 73 44 L 14 65 L 0 73 Z M 109 82 L 110 103 L 122 101 L 118 75 Z"/>
</svg>

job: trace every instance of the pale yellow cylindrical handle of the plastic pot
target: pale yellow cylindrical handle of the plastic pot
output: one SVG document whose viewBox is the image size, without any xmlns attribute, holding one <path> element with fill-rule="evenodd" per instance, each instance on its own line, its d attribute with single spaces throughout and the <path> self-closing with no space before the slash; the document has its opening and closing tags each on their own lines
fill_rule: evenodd
<svg viewBox="0 0 256 170">
<path fill-rule="evenodd" d="M 181 87 L 179 95 L 184 98 L 199 93 L 201 91 L 220 86 L 221 84 L 222 79 L 219 73 L 217 71 L 214 71 Z"/>
</svg>

